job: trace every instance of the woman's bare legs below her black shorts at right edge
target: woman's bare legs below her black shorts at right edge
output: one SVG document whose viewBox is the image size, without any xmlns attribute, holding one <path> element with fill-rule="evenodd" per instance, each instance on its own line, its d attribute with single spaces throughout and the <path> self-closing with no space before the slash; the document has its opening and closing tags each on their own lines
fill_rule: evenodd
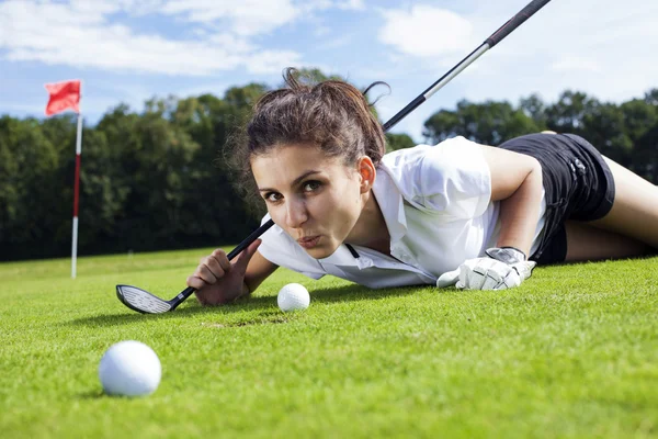
<svg viewBox="0 0 658 439">
<path fill-rule="evenodd" d="M 567 260 L 628 258 L 658 249 L 658 187 L 603 157 L 615 184 L 614 203 L 600 219 L 568 221 Z"/>
</svg>

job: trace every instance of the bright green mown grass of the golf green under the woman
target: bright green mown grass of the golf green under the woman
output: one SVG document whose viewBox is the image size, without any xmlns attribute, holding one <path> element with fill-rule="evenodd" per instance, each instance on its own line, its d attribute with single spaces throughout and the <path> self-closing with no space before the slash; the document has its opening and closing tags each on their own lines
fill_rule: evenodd
<svg viewBox="0 0 658 439">
<path fill-rule="evenodd" d="M 209 249 L 0 264 L 0 437 L 658 437 L 658 259 L 538 268 L 504 292 L 367 290 L 280 270 L 237 304 L 166 315 Z M 300 282 L 310 307 L 284 314 Z M 135 339 L 158 391 L 102 394 Z"/>
</svg>

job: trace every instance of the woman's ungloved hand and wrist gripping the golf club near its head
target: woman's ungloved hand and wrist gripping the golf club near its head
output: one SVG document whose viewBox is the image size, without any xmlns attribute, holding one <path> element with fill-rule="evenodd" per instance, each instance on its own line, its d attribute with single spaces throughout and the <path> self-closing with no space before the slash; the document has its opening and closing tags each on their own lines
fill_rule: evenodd
<svg viewBox="0 0 658 439">
<path fill-rule="evenodd" d="M 260 244 L 261 240 L 257 239 L 232 261 L 222 249 L 201 259 L 194 274 L 188 278 L 188 285 L 196 289 L 194 294 L 198 302 L 202 305 L 222 305 L 249 294 L 245 272 Z"/>
</svg>

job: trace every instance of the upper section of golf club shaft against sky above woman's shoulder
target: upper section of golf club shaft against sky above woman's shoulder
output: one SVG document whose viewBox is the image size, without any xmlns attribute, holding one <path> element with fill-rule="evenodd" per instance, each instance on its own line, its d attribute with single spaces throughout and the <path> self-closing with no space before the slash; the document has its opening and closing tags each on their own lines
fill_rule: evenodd
<svg viewBox="0 0 658 439">
<path fill-rule="evenodd" d="M 551 0 L 533 0 L 525 8 L 523 8 L 517 15 L 512 16 L 504 23 L 502 26 L 498 29 L 498 31 L 494 32 L 491 36 L 489 36 L 483 44 L 480 44 L 475 50 L 473 50 L 468 56 L 462 59 L 455 67 L 450 69 L 445 75 L 443 75 L 439 80 L 432 83 L 426 91 L 420 93 L 415 100 L 409 102 L 407 106 L 400 110 L 396 115 L 394 115 L 388 122 L 386 122 L 383 127 L 384 131 L 388 131 L 394 127 L 398 122 L 405 119 L 409 113 L 420 106 L 421 103 L 427 101 L 432 94 L 439 91 L 443 86 L 450 82 L 455 76 L 457 76 L 462 70 L 468 67 L 473 61 L 479 58 L 485 52 L 500 43 L 506 36 L 512 33 L 517 27 L 519 27 L 525 20 L 530 19 L 535 12 L 542 9 L 546 3 Z"/>
</svg>

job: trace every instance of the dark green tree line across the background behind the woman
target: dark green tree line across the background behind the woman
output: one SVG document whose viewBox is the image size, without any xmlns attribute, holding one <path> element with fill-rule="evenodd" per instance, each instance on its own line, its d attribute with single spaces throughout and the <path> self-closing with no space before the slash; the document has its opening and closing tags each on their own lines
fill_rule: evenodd
<svg viewBox="0 0 658 439">
<path fill-rule="evenodd" d="M 264 206 L 245 201 L 223 157 L 268 90 L 250 83 L 223 97 L 154 98 L 140 112 L 120 104 L 86 125 L 79 255 L 231 245 L 252 232 Z M 0 260 L 70 255 L 76 117 L 0 116 Z M 462 101 L 432 114 L 422 140 L 462 135 L 498 145 L 544 130 L 579 134 L 658 181 L 658 89 L 621 104 L 574 91 L 553 103 Z M 387 139 L 389 150 L 415 145 L 406 134 Z"/>
</svg>

